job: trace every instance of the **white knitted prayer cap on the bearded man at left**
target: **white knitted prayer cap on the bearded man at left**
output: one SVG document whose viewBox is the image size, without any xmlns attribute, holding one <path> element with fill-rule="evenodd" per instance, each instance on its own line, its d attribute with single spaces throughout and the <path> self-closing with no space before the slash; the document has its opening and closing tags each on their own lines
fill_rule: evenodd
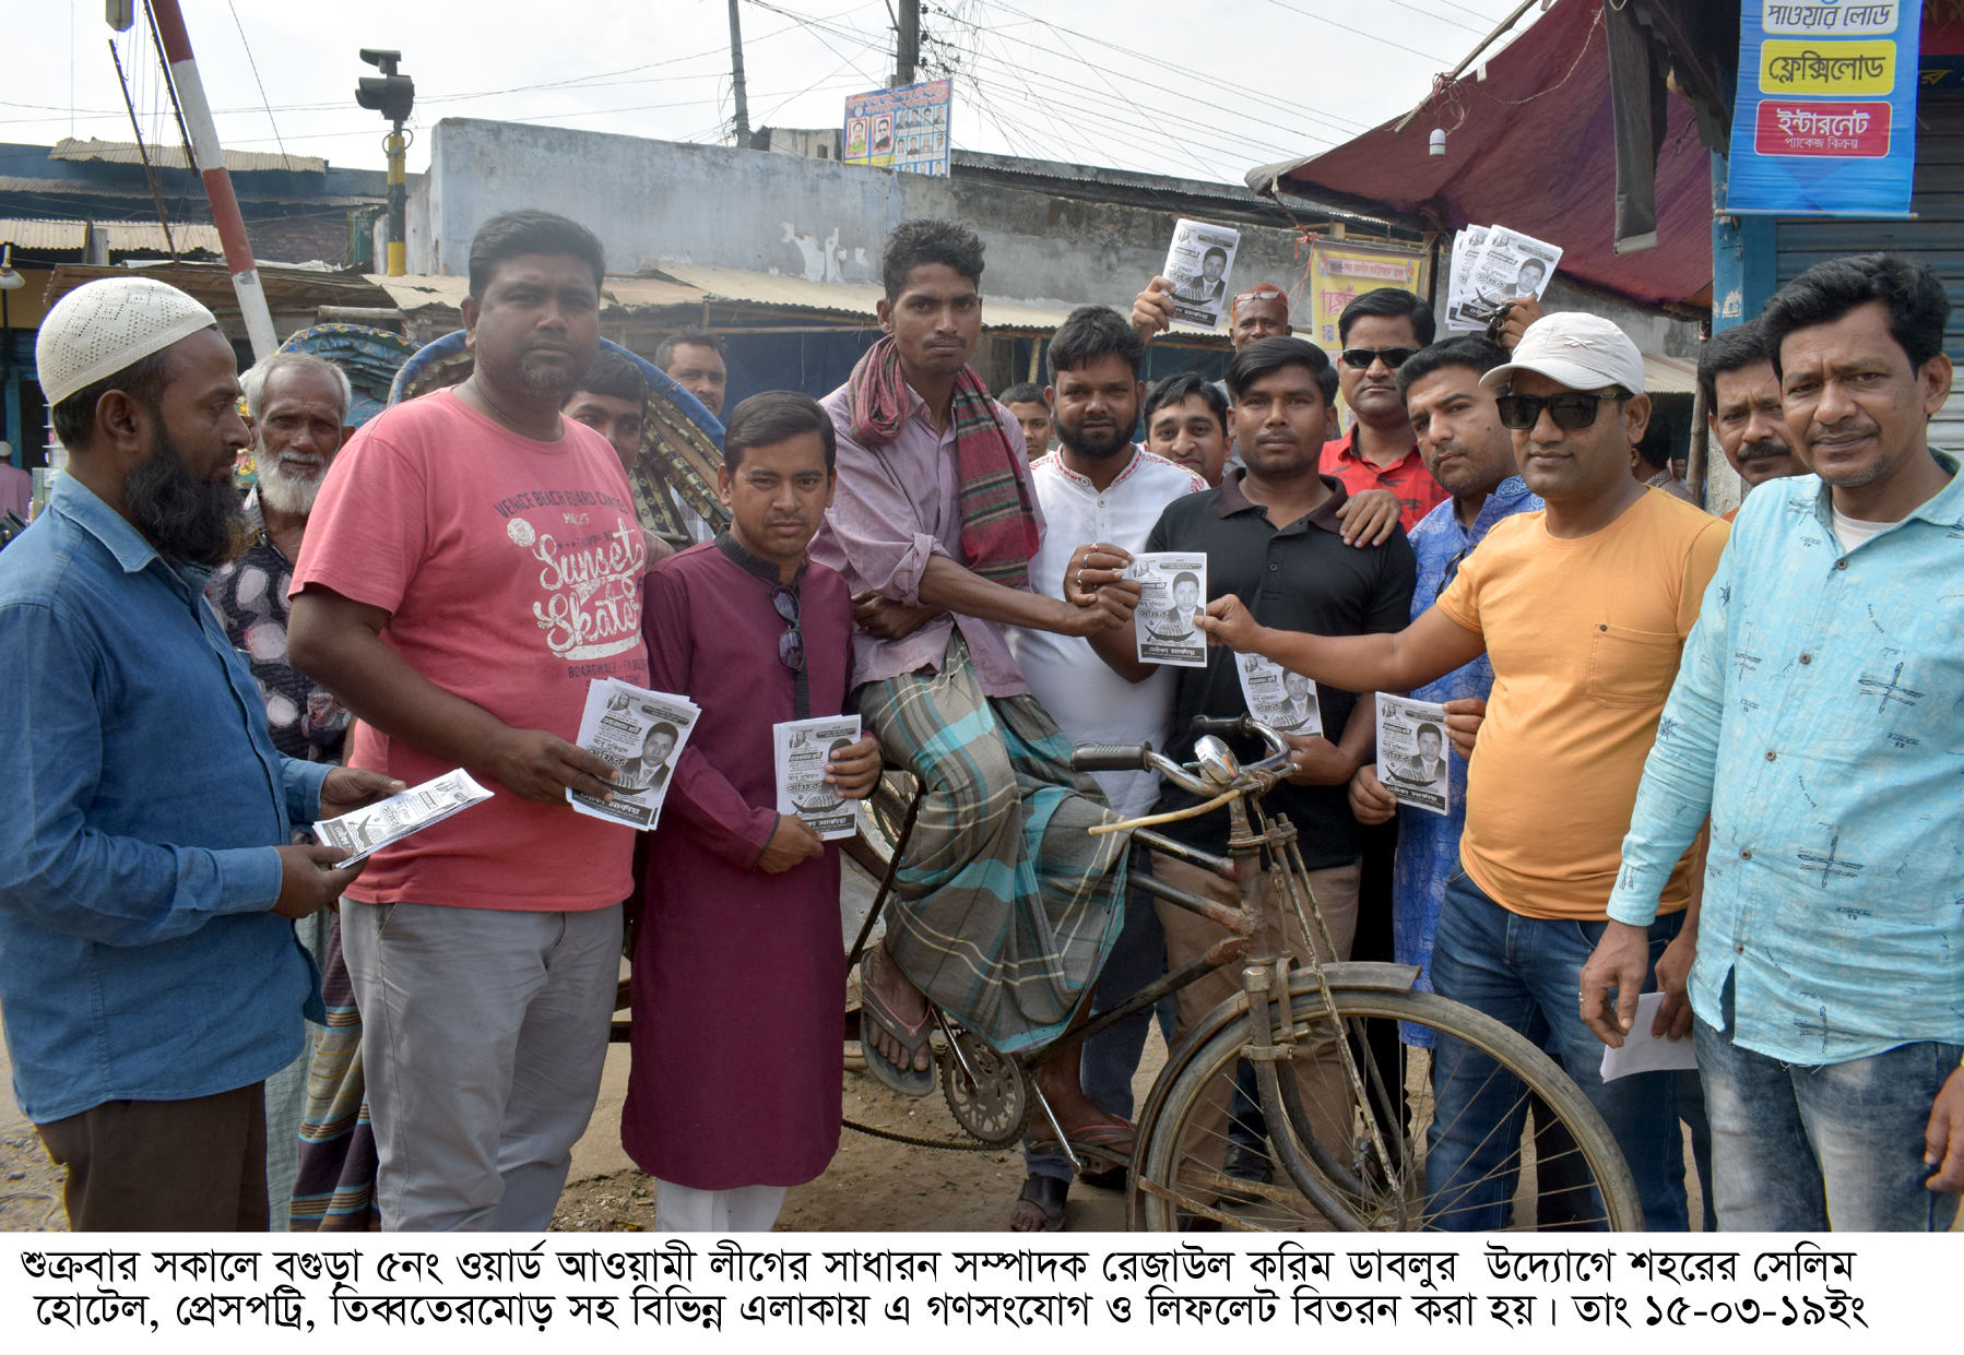
<svg viewBox="0 0 1964 1355">
<path fill-rule="evenodd" d="M 196 300 L 153 277 L 104 277 L 55 302 L 33 340 L 49 405 L 112 377 L 181 338 L 218 324 Z"/>
</svg>

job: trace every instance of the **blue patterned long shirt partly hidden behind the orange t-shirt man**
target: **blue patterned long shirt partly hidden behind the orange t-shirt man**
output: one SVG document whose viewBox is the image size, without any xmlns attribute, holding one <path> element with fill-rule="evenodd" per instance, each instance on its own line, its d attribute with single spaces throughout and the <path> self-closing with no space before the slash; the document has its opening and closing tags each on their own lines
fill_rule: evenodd
<svg viewBox="0 0 1964 1355">
<path fill-rule="evenodd" d="M 1546 505 L 1528 489 L 1520 475 L 1508 475 L 1487 497 L 1473 526 L 1467 528 L 1453 511 L 1453 501 L 1434 505 L 1412 528 L 1412 554 L 1418 556 L 1418 587 L 1412 589 L 1412 621 L 1446 591 L 1459 562 L 1487 540 L 1495 522 L 1516 513 L 1540 513 Z M 1465 668 L 1455 668 L 1438 681 L 1412 691 L 1418 701 L 1459 701 L 1485 697 L 1493 691 L 1493 664 L 1481 654 Z M 1467 821 L 1467 764 L 1459 754 L 1446 760 L 1451 782 L 1451 813 L 1436 815 L 1424 809 L 1398 807 L 1398 856 L 1392 864 L 1392 947 L 1398 964 L 1418 964 L 1418 988 L 1432 992 L 1432 937 L 1440 929 L 1440 899 L 1446 880 L 1459 868 L 1459 833 Z M 1430 1031 L 1406 1027 L 1414 1039 Z M 1426 1041 L 1430 1043 L 1430 1041 Z"/>
</svg>

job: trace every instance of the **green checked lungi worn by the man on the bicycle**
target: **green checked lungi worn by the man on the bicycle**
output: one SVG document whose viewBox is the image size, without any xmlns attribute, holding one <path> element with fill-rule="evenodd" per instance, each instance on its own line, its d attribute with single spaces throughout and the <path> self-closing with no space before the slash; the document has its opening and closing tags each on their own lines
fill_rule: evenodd
<svg viewBox="0 0 1964 1355">
<path fill-rule="evenodd" d="M 1125 921 L 1127 833 L 1070 770 L 1035 697 L 986 697 L 960 628 L 941 672 L 862 685 L 886 760 L 919 778 L 913 837 L 888 901 L 886 948 L 943 1011 L 1015 1053 L 1057 1039 Z"/>
</svg>

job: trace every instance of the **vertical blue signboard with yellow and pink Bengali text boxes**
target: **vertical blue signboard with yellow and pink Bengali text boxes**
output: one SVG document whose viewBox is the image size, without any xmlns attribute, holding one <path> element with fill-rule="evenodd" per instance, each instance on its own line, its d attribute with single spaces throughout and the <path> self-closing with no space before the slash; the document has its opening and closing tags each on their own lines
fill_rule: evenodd
<svg viewBox="0 0 1964 1355">
<path fill-rule="evenodd" d="M 1923 0 L 1742 0 L 1726 212 L 1909 216 Z"/>
</svg>

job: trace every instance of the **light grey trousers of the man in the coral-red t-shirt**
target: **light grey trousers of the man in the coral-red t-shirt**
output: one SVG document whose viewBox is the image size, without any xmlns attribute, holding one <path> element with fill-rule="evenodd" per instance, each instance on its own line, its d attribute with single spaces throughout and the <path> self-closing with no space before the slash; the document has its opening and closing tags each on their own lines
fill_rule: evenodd
<svg viewBox="0 0 1964 1355">
<path fill-rule="evenodd" d="M 383 1231 L 544 1231 L 593 1117 L 621 907 L 342 901 Z"/>
</svg>

